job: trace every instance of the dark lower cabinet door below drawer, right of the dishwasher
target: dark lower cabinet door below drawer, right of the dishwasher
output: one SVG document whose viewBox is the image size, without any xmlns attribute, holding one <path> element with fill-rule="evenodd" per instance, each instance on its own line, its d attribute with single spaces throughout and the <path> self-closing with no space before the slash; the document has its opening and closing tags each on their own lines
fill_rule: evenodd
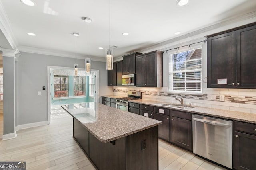
<svg viewBox="0 0 256 170">
<path fill-rule="evenodd" d="M 254 170 L 256 167 L 256 136 L 236 131 L 234 135 L 234 168 L 236 170 Z"/>
</svg>

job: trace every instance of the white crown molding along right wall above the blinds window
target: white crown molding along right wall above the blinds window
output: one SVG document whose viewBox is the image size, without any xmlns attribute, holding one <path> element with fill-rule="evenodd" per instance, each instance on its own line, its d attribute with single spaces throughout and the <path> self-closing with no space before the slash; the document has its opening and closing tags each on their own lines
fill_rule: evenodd
<svg viewBox="0 0 256 170">
<path fill-rule="evenodd" d="M 250 19 L 253 19 L 253 21 Z M 248 21 L 248 20 L 250 20 L 250 21 Z M 150 50 L 152 51 L 152 49 L 158 49 L 159 47 L 169 47 L 170 44 L 178 43 L 179 41 L 184 41 L 188 38 L 200 39 L 208 34 L 225 31 L 227 29 L 232 29 L 234 27 L 246 25 L 246 24 L 249 24 L 249 23 L 252 23 L 255 21 L 256 21 L 256 11 L 250 12 L 248 14 L 240 15 L 240 16 L 232 16 L 232 17 L 220 20 L 218 22 L 215 22 L 211 25 L 208 25 L 202 29 L 196 29 L 195 31 L 192 31 L 185 35 L 181 35 L 176 38 L 168 39 L 166 41 L 160 41 L 158 43 L 149 45 L 146 48 L 138 49 L 136 51 L 145 53 Z M 182 42 L 180 42 L 180 43 L 182 43 Z"/>
</svg>

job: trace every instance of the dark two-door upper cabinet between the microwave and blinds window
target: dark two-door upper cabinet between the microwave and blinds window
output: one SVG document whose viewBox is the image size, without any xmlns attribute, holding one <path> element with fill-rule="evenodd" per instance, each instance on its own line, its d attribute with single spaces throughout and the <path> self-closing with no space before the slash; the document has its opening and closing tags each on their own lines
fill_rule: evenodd
<svg viewBox="0 0 256 170">
<path fill-rule="evenodd" d="M 163 86 L 163 52 L 152 51 L 136 57 L 136 86 Z"/>
</svg>

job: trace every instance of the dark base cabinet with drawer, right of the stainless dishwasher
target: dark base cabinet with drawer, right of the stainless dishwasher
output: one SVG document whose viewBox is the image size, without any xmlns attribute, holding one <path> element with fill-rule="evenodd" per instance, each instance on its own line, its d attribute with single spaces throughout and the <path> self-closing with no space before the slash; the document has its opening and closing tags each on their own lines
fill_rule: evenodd
<svg viewBox="0 0 256 170">
<path fill-rule="evenodd" d="M 256 167 L 256 125 L 234 121 L 233 165 L 236 170 Z"/>
</svg>

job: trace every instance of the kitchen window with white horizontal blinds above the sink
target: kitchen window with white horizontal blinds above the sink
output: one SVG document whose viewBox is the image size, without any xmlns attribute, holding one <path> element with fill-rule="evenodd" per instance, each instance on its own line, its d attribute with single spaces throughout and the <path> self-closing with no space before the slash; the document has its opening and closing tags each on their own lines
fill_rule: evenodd
<svg viewBox="0 0 256 170">
<path fill-rule="evenodd" d="M 202 49 L 169 55 L 169 91 L 202 93 Z"/>
</svg>

